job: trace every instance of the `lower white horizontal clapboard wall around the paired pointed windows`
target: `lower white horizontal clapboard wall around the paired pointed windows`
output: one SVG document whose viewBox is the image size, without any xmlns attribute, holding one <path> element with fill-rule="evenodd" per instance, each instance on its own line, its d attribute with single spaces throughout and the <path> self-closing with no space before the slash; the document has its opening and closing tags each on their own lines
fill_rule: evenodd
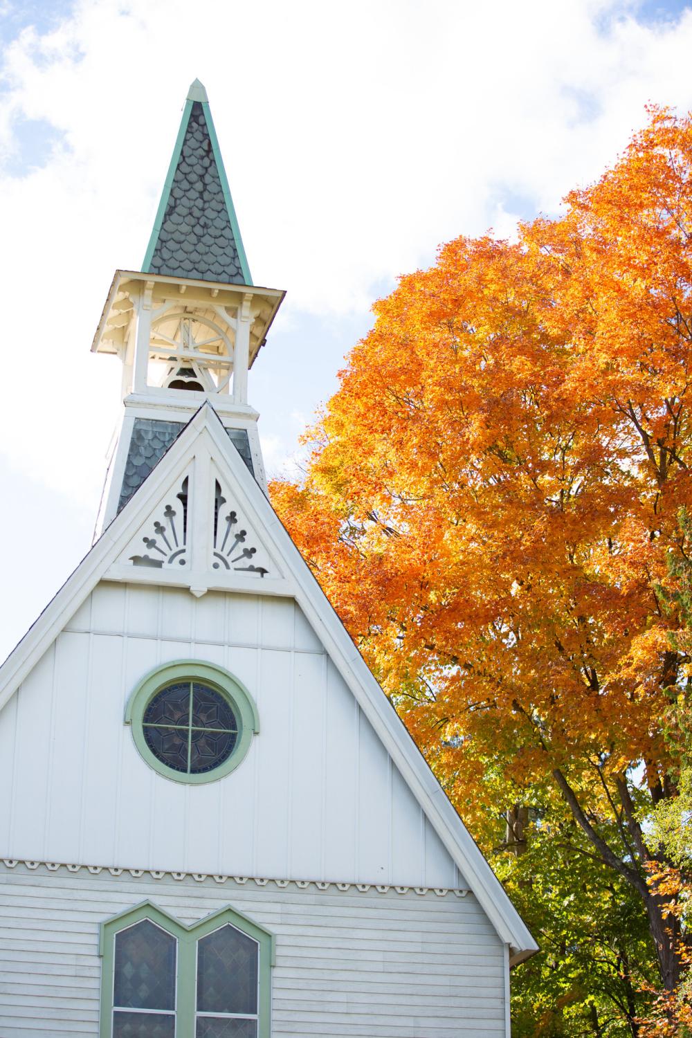
<svg viewBox="0 0 692 1038">
<path fill-rule="evenodd" d="M 505 1038 L 505 949 L 471 894 L 339 892 L 0 864 L 0 1038 L 91 1035 L 99 924 L 145 899 L 276 936 L 272 1038 Z"/>
</svg>

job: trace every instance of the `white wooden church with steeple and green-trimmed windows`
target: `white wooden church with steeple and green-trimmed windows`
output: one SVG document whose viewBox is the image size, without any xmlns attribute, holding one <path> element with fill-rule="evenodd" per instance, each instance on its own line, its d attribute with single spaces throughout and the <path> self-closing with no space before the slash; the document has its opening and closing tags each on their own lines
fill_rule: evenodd
<svg viewBox="0 0 692 1038">
<path fill-rule="evenodd" d="M 536 950 L 275 515 L 252 282 L 193 83 L 101 535 L 0 668 L 0 1038 L 508 1038 Z"/>
</svg>

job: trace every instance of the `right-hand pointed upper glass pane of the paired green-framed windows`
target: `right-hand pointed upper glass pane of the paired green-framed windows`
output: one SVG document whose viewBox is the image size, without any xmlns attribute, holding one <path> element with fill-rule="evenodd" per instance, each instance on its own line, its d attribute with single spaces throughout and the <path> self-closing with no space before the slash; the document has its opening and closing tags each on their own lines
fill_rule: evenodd
<svg viewBox="0 0 692 1038">
<path fill-rule="evenodd" d="M 197 1010 L 256 1013 L 258 951 L 256 941 L 233 926 L 223 926 L 202 937 L 197 944 Z"/>
</svg>

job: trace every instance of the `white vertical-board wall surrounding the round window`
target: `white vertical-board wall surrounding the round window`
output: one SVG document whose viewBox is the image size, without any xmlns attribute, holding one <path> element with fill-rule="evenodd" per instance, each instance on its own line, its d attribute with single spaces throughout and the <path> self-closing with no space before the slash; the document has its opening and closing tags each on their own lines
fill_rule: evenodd
<svg viewBox="0 0 692 1038">
<path fill-rule="evenodd" d="M 216 783 L 162 777 L 123 723 L 142 676 L 181 658 L 226 667 L 258 707 Z M 102 582 L 0 713 L 0 788 L 3 857 L 466 885 L 292 599 Z"/>
</svg>

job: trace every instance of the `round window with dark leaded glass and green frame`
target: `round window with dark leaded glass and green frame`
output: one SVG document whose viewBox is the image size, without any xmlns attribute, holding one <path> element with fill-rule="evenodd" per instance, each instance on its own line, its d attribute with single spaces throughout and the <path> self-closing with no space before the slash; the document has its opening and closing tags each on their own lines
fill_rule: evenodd
<svg viewBox="0 0 692 1038">
<path fill-rule="evenodd" d="M 223 667 L 198 660 L 158 666 L 134 689 L 124 714 L 140 756 L 173 782 L 223 778 L 259 731 L 247 688 Z"/>
</svg>

